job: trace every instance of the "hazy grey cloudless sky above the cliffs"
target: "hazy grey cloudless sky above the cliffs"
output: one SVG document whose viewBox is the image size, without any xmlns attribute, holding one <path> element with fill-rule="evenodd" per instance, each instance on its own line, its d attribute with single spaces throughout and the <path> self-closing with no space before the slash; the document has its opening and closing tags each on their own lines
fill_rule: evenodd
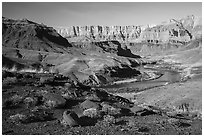
<svg viewBox="0 0 204 137">
<path fill-rule="evenodd" d="M 72 25 L 146 25 L 187 15 L 200 16 L 201 2 L 185 3 L 2 3 L 2 15 L 13 19 L 27 18 L 48 26 Z"/>
</svg>

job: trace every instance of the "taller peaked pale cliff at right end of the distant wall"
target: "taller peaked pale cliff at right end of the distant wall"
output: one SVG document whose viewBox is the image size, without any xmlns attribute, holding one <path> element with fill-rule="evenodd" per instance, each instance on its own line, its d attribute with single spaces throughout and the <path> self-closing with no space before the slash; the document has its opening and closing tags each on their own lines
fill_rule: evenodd
<svg viewBox="0 0 204 137">
<path fill-rule="evenodd" d="M 202 34 L 201 19 L 188 16 L 181 20 L 170 19 L 169 22 L 147 28 L 141 33 L 140 39 L 147 43 L 178 43 L 185 44 Z"/>
</svg>

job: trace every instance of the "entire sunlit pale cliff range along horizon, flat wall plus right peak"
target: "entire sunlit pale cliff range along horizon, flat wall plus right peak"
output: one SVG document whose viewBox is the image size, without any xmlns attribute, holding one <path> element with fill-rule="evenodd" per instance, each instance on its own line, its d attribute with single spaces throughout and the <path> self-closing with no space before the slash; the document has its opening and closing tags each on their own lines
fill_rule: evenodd
<svg viewBox="0 0 204 137">
<path fill-rule="evenodd" d="M 145 26 L 72 26 L 55 28 L 72 42 L 117 40 L 120 42 L 185 43 L 202 35 L 202 19 L 187 16 L 154 27 Z"/>
</svg>

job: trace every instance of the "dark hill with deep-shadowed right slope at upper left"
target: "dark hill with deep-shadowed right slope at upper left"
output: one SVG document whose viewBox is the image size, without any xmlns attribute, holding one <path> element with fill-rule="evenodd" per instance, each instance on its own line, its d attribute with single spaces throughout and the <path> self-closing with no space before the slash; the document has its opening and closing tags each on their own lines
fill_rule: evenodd
<svg viewBox="0 0 204 137">
<path fill-rule="evenodd" d="M 65 53 L 69 42 L 56 30 L 27 19 L 2 18 L 2 45 L 45 52 Z"/>
</svg>

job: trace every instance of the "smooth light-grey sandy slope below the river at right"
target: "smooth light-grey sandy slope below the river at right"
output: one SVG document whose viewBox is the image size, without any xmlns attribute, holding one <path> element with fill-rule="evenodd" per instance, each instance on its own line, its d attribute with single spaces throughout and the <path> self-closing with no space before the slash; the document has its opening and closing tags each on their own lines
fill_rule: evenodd
<svg viewBox="0 0 204 137">
<path fill-rule="evenodd" d="M 181 113 L 202 114 L 202 79 L 172 83 L 139 93 L 117 93 L 135 104 L 147 104 Z"/>
</svg>

